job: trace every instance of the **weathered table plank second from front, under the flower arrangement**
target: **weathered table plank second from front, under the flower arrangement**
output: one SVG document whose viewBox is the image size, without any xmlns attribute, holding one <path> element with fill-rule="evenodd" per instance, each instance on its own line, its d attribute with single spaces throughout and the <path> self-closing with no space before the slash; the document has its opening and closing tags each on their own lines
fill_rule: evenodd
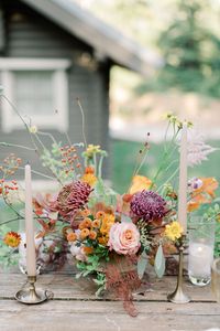
<svg viewBox="0 0 220 331">
<path fill-rule="evenodd" d="M 0 298 L 13 298 L 18 289 L 26 281 L 24 275 L 21 274 L 0 274 Z M 176 287 L 176 277 L 166 276 L 162 279 L 151 277 L 145 278 L 142 287 L 134 295 L 135 300 L 140 301 L 166 301 L 166 296 Z M 50 289 L 54 292 L 56 299 L 85 299 L 97 300 L 96 285 L 91 279 L 76 280 L 73 276 L 62 274 L 40 275 L 37 286 Z M 215 301 L 211 293 L 211 287 L 204 288 L 191 285 L 189 281 L 184 284 L 185 292 L 191 297 L 193 301 Z M 106 300 L 111 299 L 107 295 Z"/>
</svg>

